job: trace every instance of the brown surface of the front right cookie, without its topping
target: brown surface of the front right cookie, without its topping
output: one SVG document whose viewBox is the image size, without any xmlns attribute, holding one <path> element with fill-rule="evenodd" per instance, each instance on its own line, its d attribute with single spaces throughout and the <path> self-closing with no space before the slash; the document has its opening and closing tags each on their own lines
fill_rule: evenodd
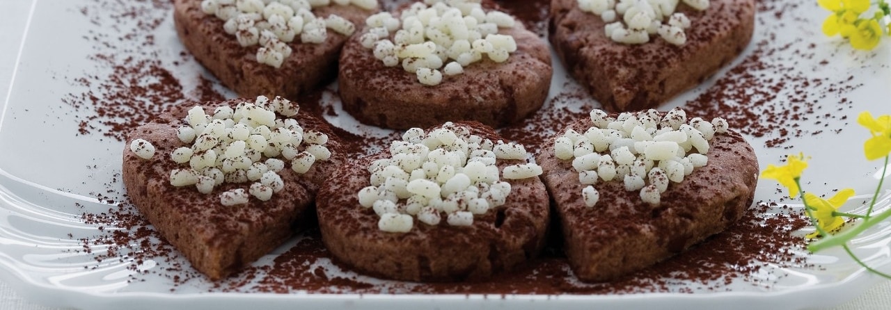
<svg viewBox="0 0 891 310">
<path fill-rule="evenodd" d="M 584 133 L 590 118 L 569 125 Z M 565 130 L 564 130 L 565 131 Z M 561 131 L 563 132 L 563 131 Z M 586 207 L 572 160 L 554 155 L 556 137 L 543 143 L 537 162 L 559 216 L 564 249 L 583 281 L 610 281 L 654 265 L 736 222 L 752 204 L 758 165 L 752 147 L 733 131 L 709 142 L 707 166 L 671 183 L 653 206 L 622 180 L 600 180 L 600 200 Z"/>
</svg>

